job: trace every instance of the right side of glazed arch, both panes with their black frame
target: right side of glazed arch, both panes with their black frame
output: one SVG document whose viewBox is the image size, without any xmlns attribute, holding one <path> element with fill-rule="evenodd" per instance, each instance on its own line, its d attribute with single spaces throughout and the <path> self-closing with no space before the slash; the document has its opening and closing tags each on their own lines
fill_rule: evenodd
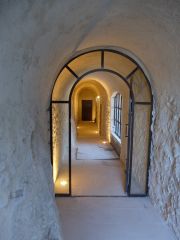
<svg viewBox="0 0 180 240">
<path fill-rule="evenodd" d="M 131 76 L 133 100 L 129 111 L 129 146 L 126 190 L 129 196 L 146 196 L 150 163 L 152 94 L 145 75 L 139 69 Z"/>
</svg>

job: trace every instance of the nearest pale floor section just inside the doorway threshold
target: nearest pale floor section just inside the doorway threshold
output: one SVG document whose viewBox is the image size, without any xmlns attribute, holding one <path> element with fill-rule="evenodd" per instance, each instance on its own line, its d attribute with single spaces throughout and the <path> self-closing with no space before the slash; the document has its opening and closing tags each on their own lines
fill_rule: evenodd
<svg viewBox="0 0 180 240">
<path fill-rule="evenodd" d="M 77 161 L 72 166 L 72 195 L 124 196 L 120 162 Z"/>
</svg>

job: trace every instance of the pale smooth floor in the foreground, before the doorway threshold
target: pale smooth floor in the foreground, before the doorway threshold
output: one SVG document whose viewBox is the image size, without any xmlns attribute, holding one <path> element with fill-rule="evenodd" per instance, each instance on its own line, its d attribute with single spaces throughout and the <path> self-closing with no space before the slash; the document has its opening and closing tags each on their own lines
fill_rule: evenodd
<svg viewBox="0 0 180 240">
<path fill-rule="evenodd" d="M 149 198 L 56 198 L 64 240 L 173 240 Z"/>
</svg>

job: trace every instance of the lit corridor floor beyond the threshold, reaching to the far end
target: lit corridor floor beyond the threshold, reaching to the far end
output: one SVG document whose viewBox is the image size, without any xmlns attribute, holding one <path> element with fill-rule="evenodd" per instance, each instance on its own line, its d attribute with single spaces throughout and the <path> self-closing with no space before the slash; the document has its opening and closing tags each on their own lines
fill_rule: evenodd
<svg viewBox="0 0 180 240">
<path fill-rule="evenodd" d="M 73 196 L 124 196 L 119 156 L 92 122 L 77 127 L 76 159 L 72 161 Z"/>
</svg>

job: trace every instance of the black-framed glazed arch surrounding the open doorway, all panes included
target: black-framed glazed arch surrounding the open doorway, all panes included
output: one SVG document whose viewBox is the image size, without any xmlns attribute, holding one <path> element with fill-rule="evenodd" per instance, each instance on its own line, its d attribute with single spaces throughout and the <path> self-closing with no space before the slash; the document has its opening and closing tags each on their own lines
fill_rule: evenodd
<svg viewBox="0 0 180 240">
<path fill-rule="evenodd" d="M 60 177 L 58 195 L 71 195 L 72 94 L 86 76 L 110 73 L 129 88 L 129 119 L 126 124 L 126 192 L 146 196 L 151 150 L 153 95 L 150 82 L 140 65 L 113 49 L 95 49 L 73 57 L 61 69 L 51 97 L 51 154 L 53 177 Z"/>
</svg>

